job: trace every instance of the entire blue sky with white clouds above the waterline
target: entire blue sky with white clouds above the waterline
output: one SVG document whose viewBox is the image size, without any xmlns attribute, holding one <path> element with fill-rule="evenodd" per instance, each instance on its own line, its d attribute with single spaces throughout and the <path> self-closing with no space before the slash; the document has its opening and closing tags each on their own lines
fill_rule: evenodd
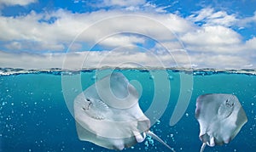
<svg viewBox="0 0 256 152">
<path fill-rule="evenodd" d="M 256 69 L 256 0 L 0 0 L 0 67 Z"/>
</svg>

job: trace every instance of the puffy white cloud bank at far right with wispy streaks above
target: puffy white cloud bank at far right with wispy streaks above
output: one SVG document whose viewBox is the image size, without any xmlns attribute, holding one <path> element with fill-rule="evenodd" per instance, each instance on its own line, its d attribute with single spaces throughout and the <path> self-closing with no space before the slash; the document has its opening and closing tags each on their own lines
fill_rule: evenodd
<svg viewBox="0 0 256 152">
<path fill-rule="evenodd" d="M 185 47 L 194 54 L 192 62 L 206 67 L 214 67 L 217 63 L 220 67 L 255 67 L 255 38 L 244 42 L 243 37 L 230 27 L 245 28 L 254 22 L 255 16 L 241 19 L 236 14 L 213 8 L 202 8 L 190 15 L 188 20 L 201 23 L 196 30 L 181 37 Z"/>
</svg>

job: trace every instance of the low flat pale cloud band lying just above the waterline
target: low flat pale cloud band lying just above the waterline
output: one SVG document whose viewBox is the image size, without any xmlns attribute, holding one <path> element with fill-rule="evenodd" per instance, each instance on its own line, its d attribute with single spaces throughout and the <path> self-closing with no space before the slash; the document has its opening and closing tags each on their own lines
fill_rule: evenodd
<svg viewBox="0 0 256 152">
<path fill-rule="evenodd" d="M 67 57 L 67 58 L 65 58 Z M 66 59 L 65 64 L 63 61 Z M 183 58 L 177 60 L 179 65 L 184 65 Z M 27 62 L 29 60 L 29 62 Z M 113 51 L 93 51 L 80 53 L 44 53 L 35 55 L 31 53 L 3 53 L 0 52 L 0 64 L 3 67 L 14 67 L 24 69 L 80 69 L 80 68 L 99 68 L 103 66 L 119 67 L 128 64 L 153 67 L 175 66 L 176 62 L 172 55 L 160 55 L 152 52 L 131 51 L 130 47 L 117 48 Z M 133 63 L 133 64 L 131 64 Z M 189 63 L 189 62 L 188 62 Z M 189 65 L 189 64 L 188 64 Z"/>
</svg>

